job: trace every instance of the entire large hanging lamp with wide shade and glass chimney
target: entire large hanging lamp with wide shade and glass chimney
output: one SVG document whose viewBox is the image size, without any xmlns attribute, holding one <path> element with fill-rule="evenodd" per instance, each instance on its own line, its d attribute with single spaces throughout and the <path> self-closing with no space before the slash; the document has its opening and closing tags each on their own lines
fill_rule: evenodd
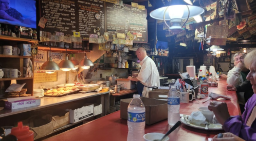
<svg viewBox="0 0 256 141">
<path fill-rule="evenodd" d="M 169 27 L 169 31 L 178 34 L 183 30 L 183 26 L 187 23 L 189 17 L 203 14 L 205 10 L 202 7 L 193 6 L 189 0 L 172 0 L 167 5 L 157 8 L 150 12 L 150 16 L 155 19 L 163 20 Z M 182 20 L 186 21 L 181 25 Z M 170 26 L 166 23 L 170 21 Z"/>
</svg>

